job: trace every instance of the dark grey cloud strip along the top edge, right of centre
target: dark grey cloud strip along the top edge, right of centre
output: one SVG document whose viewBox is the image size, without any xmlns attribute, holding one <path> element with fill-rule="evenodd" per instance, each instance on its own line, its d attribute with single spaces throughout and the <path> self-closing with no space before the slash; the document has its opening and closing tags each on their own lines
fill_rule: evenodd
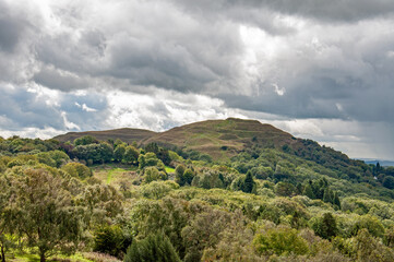
<svg viewBox="0 0 394 262">
<path fill-rule="evenodd" d="M 175 2 L 201 15 L 225 13 L 237 21 L 258 25 L 266 25 L 261 16 L 270 13 L 297 15 L 324 22 L 356 22 L 394 12 L 394 2 L 391 0 L 175 0 Z"/>
</svg>

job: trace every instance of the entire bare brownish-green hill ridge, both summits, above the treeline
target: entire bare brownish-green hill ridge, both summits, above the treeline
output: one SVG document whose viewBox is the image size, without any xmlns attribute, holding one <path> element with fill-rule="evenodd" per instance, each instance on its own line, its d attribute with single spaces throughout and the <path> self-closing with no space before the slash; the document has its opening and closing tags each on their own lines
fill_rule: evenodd
<svg viewBox="0 0 394 262">
<path fill-rule="evenodd" d="M 93 135 L 104 141 L 108 139 L 120 139 L 128 143 L 135 141 L 140 145 L 155 142 L 162 146 L 198 151 L 211 155 L 214 159 L 229 159 L 253 144 L 272 148 L 282 148 L 285 144 L 298 147 L 297 144 L 300 144 L 300 140 L 271 124 L 237 118 L 194 122 L 158 133 L 141 129 L 116 129 L 70 132 L 53 139 L 65 142 L 83 135 Z"/>
</svg>

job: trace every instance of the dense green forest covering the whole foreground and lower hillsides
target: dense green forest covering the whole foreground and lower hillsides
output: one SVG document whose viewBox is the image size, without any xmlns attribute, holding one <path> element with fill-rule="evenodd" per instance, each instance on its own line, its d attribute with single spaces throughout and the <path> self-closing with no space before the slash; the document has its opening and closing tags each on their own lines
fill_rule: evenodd
<svg viewBox="0 0 394 262">
<path fill-rule="evenodd" d="M 259 139 L 0 138 L 1 260 L 394 261 L 394 167 Z"/>
</svg>

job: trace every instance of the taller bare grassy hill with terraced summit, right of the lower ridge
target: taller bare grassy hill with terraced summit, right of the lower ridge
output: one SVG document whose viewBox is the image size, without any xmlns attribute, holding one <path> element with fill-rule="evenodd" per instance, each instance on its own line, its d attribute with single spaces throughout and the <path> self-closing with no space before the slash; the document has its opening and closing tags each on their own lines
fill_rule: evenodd
<svg viewBox="0 0 394 262">
<path fill-rule="evenodd" d="M 186 124 L 142 141 L 143 144 L 151 142 L 198 151 L 214 159 L 228 159 L 253 144 L 279 148 L 284 144 L 295 144 L 298 140 L 271 124 L 228 118 Z"/>
</svg>

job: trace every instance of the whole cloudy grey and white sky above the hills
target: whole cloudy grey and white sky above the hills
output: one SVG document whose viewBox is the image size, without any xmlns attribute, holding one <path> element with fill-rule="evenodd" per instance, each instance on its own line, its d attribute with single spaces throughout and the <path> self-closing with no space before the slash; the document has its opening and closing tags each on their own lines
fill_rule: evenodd
<svg viewBox="0 0 394 262">
<path fill-rule="evenodd" d="M 394 159 L 393 0 L 0 0 L 0 135 L 258 119 Z"/>
</svg>

